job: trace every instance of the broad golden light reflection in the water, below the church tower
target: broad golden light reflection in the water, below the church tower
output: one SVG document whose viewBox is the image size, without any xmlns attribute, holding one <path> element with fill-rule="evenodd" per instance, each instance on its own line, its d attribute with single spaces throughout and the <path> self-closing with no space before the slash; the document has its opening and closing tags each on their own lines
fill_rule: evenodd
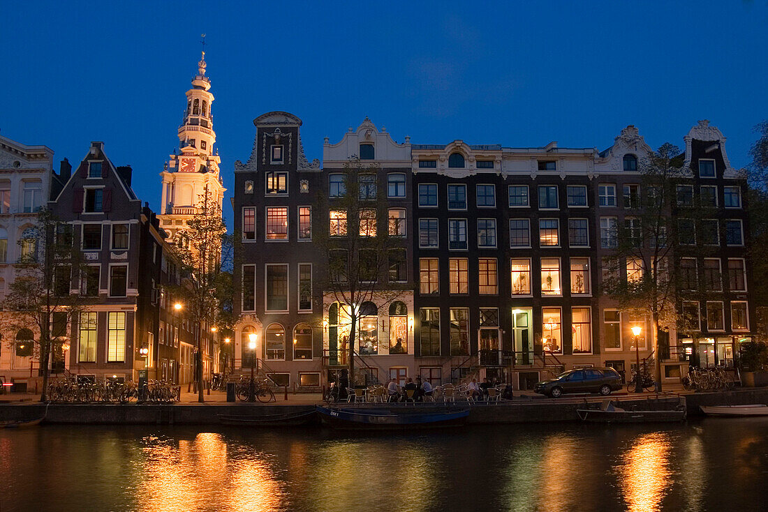
<svg viewBox="0 0 768 512">
<path fill-rule="evenodd" d="M 282 490 L 265 457 L 251 451 L 230 454 L 221 434 L 201 433 L 192 441 L 143 440 L 144 461 L 136 499 L 141 510 L 276 510 Z"/>
</svg>

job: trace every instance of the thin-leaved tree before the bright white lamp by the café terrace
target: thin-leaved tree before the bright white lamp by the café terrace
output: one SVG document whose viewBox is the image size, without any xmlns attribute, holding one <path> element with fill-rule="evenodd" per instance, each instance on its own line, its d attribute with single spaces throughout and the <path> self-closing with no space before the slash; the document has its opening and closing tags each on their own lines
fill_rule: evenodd
<svg viewBox="0 0 768 512">
<path fill-rule="evenodd" d="M 344 164 L 340 175 L 336 188 L 329 190 L 329 198 L 320 205 L 321 215 L 328 220 L 323 219 L 324 227 L 320 233 L 313 233 L 313 239 L 328 255 L 322 289 L 332 293 L 340 305 L 339 324 L 342 319 L 349 321 L 346 350 L 349 382 L 354 383 L 355 345 L 359 320 L 366 314 L 364 308 L 373 303 L 382 309 L 409 288 L 402 283 L 386 284 L 390 269 L 405 265 L 401 252 L 404 239 L 399 233 L 406 220 L 389 219 L 386 194 L 377 190 L 378 165 L 366 166 L 353 157 Z"/>
</svg>

